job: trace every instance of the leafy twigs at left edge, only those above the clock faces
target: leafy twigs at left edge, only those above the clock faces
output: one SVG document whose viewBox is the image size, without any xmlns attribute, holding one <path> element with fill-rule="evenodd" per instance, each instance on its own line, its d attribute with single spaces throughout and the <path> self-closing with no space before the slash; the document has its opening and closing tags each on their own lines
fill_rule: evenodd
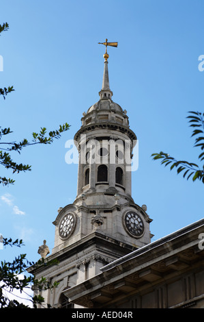
<svg viewBox="0 0 204 322">
<path fill-rule="evenodd" d="M 3 23 L 3 25 L 0 25 L 0 35 L 1 32 L 7 31 L 8 28 L 8 23 Z M 3 99 L 5 99 L 5 96 L 12 91 L 14 91 L 13 86 L 8 86 L 8 88 L 0 88 L 0 97 L 3 96 Z M 20 151 L 24 147 L 28 147 L 29 145 L 51 144 L 53 143 L 54 139 L 60 138 L 61 134 L 67 131 L 69 128 L 70 125 L 68 125 L 68 123 L 59 125 L 59 129 L 56 129 L 55 131 L 50 131 L 48 133 L 48 136 L 46 136 L 46 128 L 41 127 L 39 133 L 33 132 L 31 142 L 24 138 L 20 142 L 16 143 L 15 141 L 1 142 L 1 139 L 7 136 L 8 134 L 11 134 L 12 131 L 10 127 L 3 128 L 0 126 L 0 164 L 4 166 L 5 169 L 12 169 L 13 173 L 19 173 L 20 171 L 31 171 L 31 166 L 29 164 L 17 164 L 16 162 L 14 162 L 12 160 L 12 157 L 10 156 L 10 152 L 16 151 L 20 153 Z M 0 176 L 0 184 L 3 184 L 3 186 L 7 186 L 8 184 L 14 184 L 14 180 L 11 178 Z"/>
</svg>

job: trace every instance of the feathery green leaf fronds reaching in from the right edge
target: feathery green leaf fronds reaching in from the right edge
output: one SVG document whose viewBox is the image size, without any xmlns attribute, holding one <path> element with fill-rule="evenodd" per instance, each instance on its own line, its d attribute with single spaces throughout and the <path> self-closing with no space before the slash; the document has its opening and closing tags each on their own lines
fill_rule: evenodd
<svg viewBox="0 0 204 322">
<path fill-rule="evenodd" d="M 204 160 L 204 113 L 192 111 L 189 113 L 190 115 L 187 116 L 187 119 L 190 119 L 190 127 L 194 128 L 192 136 L 196 137 L 194 147 L 199 147 L 201 149 L 198 158 L 199 161 L 202 162 Z M 187 180 L 192 177 L 193 182 L 196 179 L 199 179 L 204 184 L 204 163 L 202 164 L 202 167 L 199 167 L 199 165 L 192 162 L 184 160 L 178 161 L 164 152 L 154 153 L 151 156 L 154 157 L 153 160 L 162 159 L 161 164 L 164 164 L 164 166 L 171 164 L 170 170 L 177 168 L 177 174 L 184 171 L 182 174 Z"/>
</svg>

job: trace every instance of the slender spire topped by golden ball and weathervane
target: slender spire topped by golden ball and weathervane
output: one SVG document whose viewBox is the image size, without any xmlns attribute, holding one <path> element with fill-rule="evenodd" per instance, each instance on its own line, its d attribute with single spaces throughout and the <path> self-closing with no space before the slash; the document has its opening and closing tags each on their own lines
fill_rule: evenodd
<svg viewBox="0 0 204 322">
<path fill-rule="evenodd" d="M 104 75 L 103 75 L 103 82 L 102 82 L 102 89 L 99 92 L 100 99 L 111 99 L 113 96 L 113 92 L 109 87 L 109 77 L 108 77 L 108 53 L 107 53 L 107 46 L 117 47 L 117 42 L 98 42 L 99 44 L 106 46 L 106 53 L 104 53 Z"/>
</svg>

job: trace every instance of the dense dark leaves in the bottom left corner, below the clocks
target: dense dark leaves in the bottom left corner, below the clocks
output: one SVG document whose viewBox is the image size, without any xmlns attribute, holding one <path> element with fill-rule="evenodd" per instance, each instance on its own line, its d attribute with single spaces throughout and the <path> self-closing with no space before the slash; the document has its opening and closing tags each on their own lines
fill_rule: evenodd
<svg viewBox="0 0 204 322">
<path fill-rule="evenodd" d="M 3 245 L 8 246 L 23 246 L 23 240 L 14 240 L 3 238 Z M 26 254 L 20 254 L 20 256 L 16 257 L 13 262 L 5 262 L 1 261 L 0 265 L 0 308 L 29 308 L 23 303 L 20 303 L 19 300 L 14 299 L 10 300 L 9 297 L 6 296 L 6 293 L 11 293 L 14 290 L 20 291 L 22 294 L 21 300 L 26 295 L 26 298 L 31 301 L 33 304 L 33 308 L 37 308 L 37 305 L 43 305 L 44 298 L 38 295 L 29 295 L 27 294 L 27 290 L 31 288 L 31 285 L 35 290 L 54 290 L 58 286 L 59 283 L 54 282 L 53 284 L 50 281 L 46 280 L 45 277 L 41 277 L 40 280 L 35 278 L 35 275 L 26 276 L 20 278 L 24 273 L 27 273 L 28 267 L 32 266 L 34 269 L 42 266 L 48 266 L 57 264 L 57 260 L 48 260 L 41 258 L 38 262 L 29 262 L 26 258 Z M 5 292 L 6 290 L 6 292 Z M 50 306 L 48 306 L 50 307 Z"/>
</svg>

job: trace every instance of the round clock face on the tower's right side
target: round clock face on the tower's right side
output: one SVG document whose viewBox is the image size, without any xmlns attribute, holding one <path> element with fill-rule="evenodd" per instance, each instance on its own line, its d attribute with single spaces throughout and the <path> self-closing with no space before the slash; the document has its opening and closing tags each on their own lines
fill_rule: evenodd
<svg viewBox="0 0 204 322">
<path fill-rule="evenodd" d="M 124 223 L 127 232 L 133 237 L 140 237 L 144 232 L 144 224 L 136 212 L 128 212 L 124 216 Z"/>
</svg>

